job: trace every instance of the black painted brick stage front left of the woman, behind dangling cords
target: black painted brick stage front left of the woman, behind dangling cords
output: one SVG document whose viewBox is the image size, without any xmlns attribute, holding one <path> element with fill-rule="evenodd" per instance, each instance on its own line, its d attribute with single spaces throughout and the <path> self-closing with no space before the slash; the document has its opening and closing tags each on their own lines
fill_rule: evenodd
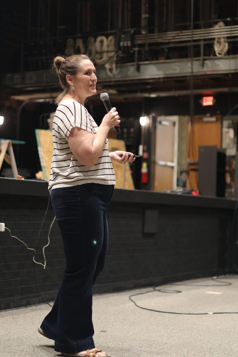
<svg viewBox="0 0 238 357">
<path fill-rule="evenodd" d="M 0 221 L 11 230 L 12 235 L 36 250 L 36 261 L 44 263 L 42 248 L 47 244 L 49 227 L 54 218 L 52 208 L 47 213 L 39 238 L 37 237 L 48 198 L 1 195 L 0 202 Z M 34 276 L 33 253 L 23 243 L 12 238 L 9 231 L 0 232 L 1 309 L 41 302 Z M 37 282 L 42 294 L 52 300 L 59 288 L 65 266 L 57 223 L 52 226 L 50 245 L 45 248 L 45 256 L 46 269 L 36 265 Z"/>
</svg>

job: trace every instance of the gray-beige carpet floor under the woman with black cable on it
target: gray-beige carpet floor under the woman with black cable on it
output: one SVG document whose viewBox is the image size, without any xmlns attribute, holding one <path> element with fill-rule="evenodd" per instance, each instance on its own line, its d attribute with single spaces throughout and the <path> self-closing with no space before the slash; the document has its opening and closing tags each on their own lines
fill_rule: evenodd
<svg viewBox="0 0 238 357">
<path fill-rule="evenodd" d="M 238 276 L 224 282 L 202 278 L 159 286 L 181 293 L 151 291 L 133 299 L 142 307 L 180 313 L 238 312 Z M 196 284 L 197 286 L 182 285 Z M 198 286 L 212 285 L 212 286 Z M 94 341 L 111 357 L 233 357 L 238 355 L 238 314 L 177 315 L 142 310 L 129 296 L 142 288 L 93 296 Z M 1 357 L 54 357 L 54 341 L 37 327 L 50 311 L 46 304 L 0 312 Z"/>
</svg>

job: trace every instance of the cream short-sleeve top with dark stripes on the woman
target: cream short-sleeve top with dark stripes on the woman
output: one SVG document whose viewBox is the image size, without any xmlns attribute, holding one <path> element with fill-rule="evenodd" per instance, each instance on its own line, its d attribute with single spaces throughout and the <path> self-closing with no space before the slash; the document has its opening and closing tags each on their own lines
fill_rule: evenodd
<svg viewBox="0 0 238 357">
<path fill-rule="evenodd" d="M 108 140 L 95 165 L 82 165 L 70 150 L 70 130 L 78 126 L 95 135 L 98 126 L 79 102 L 66 99 L 59 103 L 53 121 L 53 155 L 50 169 L 49 191 L 54 188 L 101 183 L 115 185 L 115 172 L 108 152 Z"/>
</svg>

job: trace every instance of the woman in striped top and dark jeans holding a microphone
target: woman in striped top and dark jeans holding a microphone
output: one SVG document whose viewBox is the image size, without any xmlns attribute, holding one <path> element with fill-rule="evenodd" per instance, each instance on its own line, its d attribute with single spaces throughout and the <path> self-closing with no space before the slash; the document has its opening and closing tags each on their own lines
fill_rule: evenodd
<svg viewBox="0 0 238 357">
<path fill-rule="evenodd" d="M 107 206 L 116 183 L 111 160 L 132 162 L 131 152 L 108 152 L 109 130 L 120 123 L 112 108 L 98 127 L 84 101 L 96 94 L 95 67 L 86 55 L 56 57 L 63 89 L 53 122 L 54 151 L 49 181 L 66 270 L 54 306 L 38 331 L 55 341 L 62 356 L 109 357 L 95 348 L 92 287 L 105 265 Z M 120 154 L 123 154 L 120 157 Z"/>
</svg>

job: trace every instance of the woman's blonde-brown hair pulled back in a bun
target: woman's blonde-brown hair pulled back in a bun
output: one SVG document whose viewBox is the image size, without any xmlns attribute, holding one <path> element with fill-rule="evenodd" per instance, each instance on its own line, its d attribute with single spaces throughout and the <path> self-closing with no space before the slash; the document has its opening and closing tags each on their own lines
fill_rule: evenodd
<svg viewBox="0 0 238 357">
<path fill-rule="evenodd" d="M 56 97 L 55 102 L 58 105 L 61 99 L 67 94 L 69 91 L 69 85 L 66 80 L 67 74 L 74 76 L 79 69 L 80 63 L 83 60 L 90 60 L 90 58 L 86 55 L 72 55 L 69 57 L 55 57 L 53 61 L 52 68 L 55 70 L 60 85 L 63 91 Z M 91 60 L 90 60 L 91 61 Z"/>
</svg>

